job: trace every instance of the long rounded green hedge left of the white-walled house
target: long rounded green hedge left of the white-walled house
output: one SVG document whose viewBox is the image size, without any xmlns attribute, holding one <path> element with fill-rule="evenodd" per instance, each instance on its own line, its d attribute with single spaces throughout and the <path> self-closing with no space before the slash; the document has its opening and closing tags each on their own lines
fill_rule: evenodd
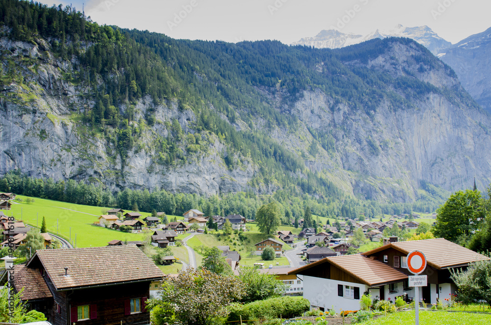
<svg viewBox="0 0 491 325">
<path fill-rule="evenodd" d="M 310 303 L 302 297 L 279 297 L 258 300 L 246 304 L 233 303 L 229 306 L 228 321 L 255 319 L 294 318 L 301 316 L 310 308 Z M 317 314 L 319 315 L 319 314 Z"/>
</svg>

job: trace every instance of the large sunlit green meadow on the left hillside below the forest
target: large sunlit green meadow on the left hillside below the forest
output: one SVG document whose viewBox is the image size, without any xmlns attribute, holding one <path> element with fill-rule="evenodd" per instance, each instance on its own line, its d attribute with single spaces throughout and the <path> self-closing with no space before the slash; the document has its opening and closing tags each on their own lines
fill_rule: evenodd
<svg viewBox="0 0 491 325">
<path fill-rule="evenodd" d="M 27 198 L 27 196 L 23 195 L 18 195 L 17 197 L 23 200 Z M 109 208 L 34 198 L 34 203 L 32 204 L 12 204 L 12 210 L 8 211 L 8 215 L 13 215 L 17 220 L 24 220 L 25 223 L 38 228 L 41 227 L 44 216 L 49 232 L 58 233 L 62 237 L 71 239 L 74 244 L 75 235 L 77 235 L 77 247 L 106 246 L 114 239 L 123 241 L 141 241 L 145 239 L 146 234 L 144 233 L 130 234 L 94 226 L 93 223 L 97 221 L 97 217 L 103 211 L 105 213 L 108 210 Z M 149 213 L 141 214 L 144 217 L 150 216 Z"/>
</svg>

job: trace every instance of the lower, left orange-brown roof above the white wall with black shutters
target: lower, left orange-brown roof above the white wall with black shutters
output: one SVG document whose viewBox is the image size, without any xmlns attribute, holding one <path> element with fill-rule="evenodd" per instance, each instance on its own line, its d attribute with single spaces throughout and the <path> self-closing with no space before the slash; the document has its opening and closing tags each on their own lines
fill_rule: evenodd
<svg viewBox="0 0 491 325">
<path fill-rule="evenodd" d="M 301 271 L 305 269 L 323 268 L 322 264 L 324 263 L 337 266 L 369 286 L 400 282 L 408 278 L 408 275 L 403 272 L 360 254 L 326 257 L 288 274 L 301 274 Z"/>
</svg>

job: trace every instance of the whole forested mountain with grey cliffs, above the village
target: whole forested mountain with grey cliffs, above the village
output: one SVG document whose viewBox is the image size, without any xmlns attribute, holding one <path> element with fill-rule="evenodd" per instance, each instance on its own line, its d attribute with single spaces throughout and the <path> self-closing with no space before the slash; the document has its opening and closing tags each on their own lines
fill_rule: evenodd
<svg viewBox="0 0 491 325">
<path fill-rule="evenodd" d="M 490 183 L 489 115 L 409 39 L 175 40 L 15 0 L 0 21 L 0 173 L 399 202 Z"/>
</svg>

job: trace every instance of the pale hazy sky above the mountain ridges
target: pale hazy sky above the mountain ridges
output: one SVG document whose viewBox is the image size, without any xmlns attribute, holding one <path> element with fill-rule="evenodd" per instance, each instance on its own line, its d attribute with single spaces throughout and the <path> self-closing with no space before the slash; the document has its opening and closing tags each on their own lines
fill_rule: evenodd
<svg viewBox="0 0 491 325">
<path fill-rule="evenodd" d="M 491 27 L 489 0 L 41 0 L 72 4 L 100 25 L 164 33 L 173 38 L 275 39 L 285 44 L 336 27 L 361 35 L 427 25 L 455 44 Z"/>
</svg>

